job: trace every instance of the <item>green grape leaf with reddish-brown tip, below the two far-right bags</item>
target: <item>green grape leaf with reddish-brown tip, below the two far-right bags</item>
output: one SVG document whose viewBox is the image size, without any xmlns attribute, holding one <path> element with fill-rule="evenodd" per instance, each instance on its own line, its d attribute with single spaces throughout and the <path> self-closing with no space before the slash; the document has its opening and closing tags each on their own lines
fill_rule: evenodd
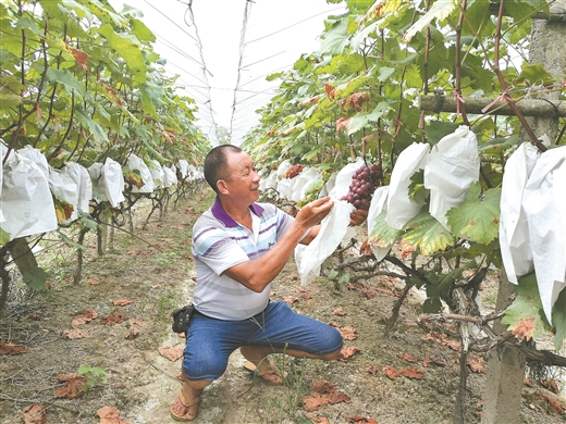
<svg viewBox="0 0 566 424">
<path fill-rule="evenodd" d="M 549 326 L 542 314 L 542 302 L 537 277 L 534 273 L 531 273 L 520 277 L 517 286 L 514 286 L 517 298 L 505 310 L 505 316 L 501 322 L 507 324 L 509 329 L 513 331 L 516 326 L 521 325 L 521 322 L 533 320 L 532 338 L 537 339 L 543 329 Z"/>
</svg>

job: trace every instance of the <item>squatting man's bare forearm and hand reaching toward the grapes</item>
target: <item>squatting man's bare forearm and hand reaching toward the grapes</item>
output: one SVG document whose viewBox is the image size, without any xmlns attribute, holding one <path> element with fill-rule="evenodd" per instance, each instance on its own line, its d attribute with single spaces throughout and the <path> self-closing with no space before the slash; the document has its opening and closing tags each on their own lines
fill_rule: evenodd
<svg viewBox="0 0 566 424">
<path fill-rule="evenodd" d="M 266 286 L 283 270 L 306 230 L 311 228 L 309 235 L 305 238 L 309 238 L 313 230 L 312 238 L 316 237 L 320 228 L 317 224 L 329 214 L 334 204 L 329 200 L 330 198 L 325 197 L 304 207 L 283 237 L 266 254 L 254 261 L 246 261 L 232 266 L 224 271 L 224 274 L 250 290 L 263 291 Z"/>
</svg>

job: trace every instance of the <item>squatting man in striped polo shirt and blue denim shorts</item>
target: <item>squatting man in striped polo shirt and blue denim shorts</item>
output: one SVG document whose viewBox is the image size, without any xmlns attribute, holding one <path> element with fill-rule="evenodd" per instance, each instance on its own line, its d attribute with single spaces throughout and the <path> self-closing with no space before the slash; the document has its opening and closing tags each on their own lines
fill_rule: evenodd
<svg viewBox="0 0 566 424">
<path fill-rule="evenodd" d="M 237 348 L 270 384 L 282 383 L 266 359 L 270 353 L 330 361 L 342 349 L 335 328 L 269 300 L 271 282 L 295 247 L 317 236 L 332 209 L 330 198 L 307 204 L 295 219 L 256 203 L 261 178 L 251 158 L 235 146 L 212 149 L 204 172 L 217 199 L 193 228 L 197 313 L 186 335 L 183 388 L 171 406 L 176 421 L 196 417 L 200 392 L 224 373 Z"/>
</svg>

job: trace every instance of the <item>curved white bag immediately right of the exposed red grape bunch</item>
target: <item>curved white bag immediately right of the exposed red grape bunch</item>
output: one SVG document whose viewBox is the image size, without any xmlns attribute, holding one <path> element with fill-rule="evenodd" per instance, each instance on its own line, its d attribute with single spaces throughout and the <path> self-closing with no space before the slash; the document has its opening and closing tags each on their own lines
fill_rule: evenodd
<svg viewBox="0 0 566 424">
<path fill-rule="evenodd" d="M 415 199 L 409 198 L 410 177 L 422 170 L 427 163 L 430 147 L 424 142 L 414 142 L 403 150 L 391 173 L 387 196 L 389 226 L 402 229 L 403 226 L 419 213 L 427 200 L 428 190 L 421 190 Z"/>
</svg>

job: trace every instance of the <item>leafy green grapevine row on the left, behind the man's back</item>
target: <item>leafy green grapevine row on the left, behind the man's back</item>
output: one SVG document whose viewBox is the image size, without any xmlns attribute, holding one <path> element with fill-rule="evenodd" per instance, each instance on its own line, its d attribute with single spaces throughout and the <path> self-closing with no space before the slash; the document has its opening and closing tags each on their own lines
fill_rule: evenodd
<svg viewBox="0 0 566 424">
<path fill-rule="evenodd" d="M 164 60 L 152 48 L 156 37 L 142 20 L 138 10 L 126 7 L 118 13 L 106 0 L 0 1 L 4 183 L 13 171 L 11 158 L 29 149 L 51 170 L 70 164 L 91 170 L 112 161 L 123 174 L 125 200 L 118 208 L 100 196 L 96 180 L 90 208 L 81 214 L 53 194 L 58 234 L 77 248 L 79 259 L 85 234 L 123 225 L 140 198 L 153 202 L 151 213 L 157 209 L 163 213 L 173 195 L 177 199 L 194 189 L 197 183 L 186 170 L 181 175 L 179 164 L 200 166 L 210 148 L 195 125 L 194 100 L 179 93 L 176 77 L 165 75 Z M 139 158 L 146 170 L 176 171 L 176 185 L 136 192 L 144 182 L 139 169 L 128 167 L 133 158 Z M 70 222 L 71 216 L 76 219 Z M 30 286 L 40 288 L 46 279 L 28 240 L 0 228 L 0 315 L 10 254 Z"/>
</svg>

